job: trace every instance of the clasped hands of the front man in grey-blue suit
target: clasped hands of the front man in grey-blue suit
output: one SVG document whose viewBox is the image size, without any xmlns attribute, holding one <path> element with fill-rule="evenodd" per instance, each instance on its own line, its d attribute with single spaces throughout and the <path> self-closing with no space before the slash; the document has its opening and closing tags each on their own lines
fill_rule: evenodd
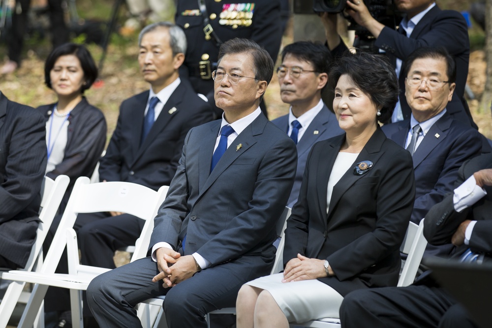
<svg viewBox="0 0 492 328">
<path fill-rule="evenodd" d="M 160 247 L 155 251 L 155 257 L 159 273 L 152 278 L 152 281 L 162 280 L 164 288 L 174 287 L 197 272 L 193 255 L 181 256 L 171 248 Z"/>
</svg>

